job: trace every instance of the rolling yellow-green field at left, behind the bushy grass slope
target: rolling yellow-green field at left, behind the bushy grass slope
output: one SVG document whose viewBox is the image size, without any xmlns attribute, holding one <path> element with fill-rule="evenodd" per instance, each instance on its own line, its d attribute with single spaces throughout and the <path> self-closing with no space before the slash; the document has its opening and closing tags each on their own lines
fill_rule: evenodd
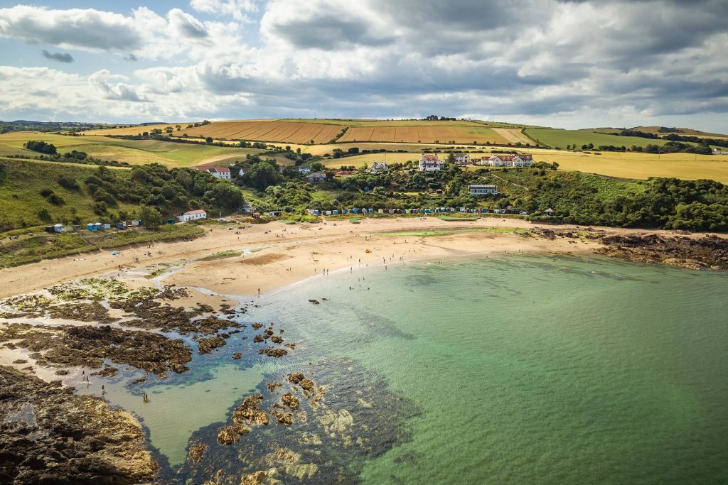
<svg viewBox="0 0 728 485">
<path fill-rule="evenodd" d="M 156 162 L 167 167 L 229 164 L 235 160 L 244 160 L 248 153 L 261 153 L 261 150 L 255 148 L 193 145 L 160 140 L 119 140 L 95 135 L 71 137 L 39 132 L 12 132 L 0 135 L 0 156 L 39 155 L 23 148 L 28 140 L 52 143 L 59 152 L 76 150 L 107 161 L 124 161 L 132 165 Z"/>
</svg>

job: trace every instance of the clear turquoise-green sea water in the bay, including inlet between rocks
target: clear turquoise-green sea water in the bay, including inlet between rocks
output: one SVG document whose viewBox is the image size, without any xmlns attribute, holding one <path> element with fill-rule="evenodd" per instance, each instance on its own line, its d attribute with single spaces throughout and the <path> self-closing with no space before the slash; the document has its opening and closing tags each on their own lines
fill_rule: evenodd
<svg viewBox="0 0 728 485">
<path fill-rule="evenodd" d="M 346 358 L 363 372 L 335 386 L 376 375 L 416 408 L 399 423 L 406 433 L 363 457 L 364 483 L 728 481 L 726 273 L 443 260 L 332 274 L 259 303 L 245 321 L 284 328 L 298 345 L 289 356 L 233 363 L 250 345 L 233 337 L 196 357 L 197 374 L 151 382 L 150 406 L 112 386 L 172 465 L 192 431 L 228 419 L 266 376 Z"/>
</svg>

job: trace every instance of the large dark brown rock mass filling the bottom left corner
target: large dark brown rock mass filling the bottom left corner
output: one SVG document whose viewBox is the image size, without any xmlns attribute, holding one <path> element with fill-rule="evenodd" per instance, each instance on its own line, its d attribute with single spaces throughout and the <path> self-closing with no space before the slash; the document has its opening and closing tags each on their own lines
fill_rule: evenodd
<svg viewBox="0 0 728 485">
<path fill-rule="evenodd" d="M 0 483 L 125 485 L 157 470 L 131 414 L 0 366 Z"/>
</svg>

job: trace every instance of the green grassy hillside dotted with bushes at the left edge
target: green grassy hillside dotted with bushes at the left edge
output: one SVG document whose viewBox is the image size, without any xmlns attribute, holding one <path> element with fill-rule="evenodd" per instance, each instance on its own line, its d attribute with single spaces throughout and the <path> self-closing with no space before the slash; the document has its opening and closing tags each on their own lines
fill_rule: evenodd
<svg viewBox="0 0 728 485">
<path fill-rule="evenodd" d="M 92 175 L 94 167 L 13 159 L 0 159 L 0 164 L 5 167 L 5 175 L 0 180 L 0 223 L 11 223 L 16 227 L 22 225 L 23 221 L 28 226 L 44 224 L 38 217 L 39 210 L 44 207 L 50 212 L 54 223 L 73 219 L 72 208 L 76 209 L 76 214 L 82 220 L 98 218 L 91 209 L 93 199 L 85 191 L 83 183 L 86 177 Z M 125 172 L 119 169 L 119 174 Z M 81 189 L 69 191 L 58 185 L 58 177 L 62 175 L 76 179 Z M 50 204 L 39 193 L 44 188 L 50 188 L 66 204 Z M 112 208 L 114 212 L 119 209 L 131 211 L 134 207 L 119 203 L 118 208 Z"/>
</svg>

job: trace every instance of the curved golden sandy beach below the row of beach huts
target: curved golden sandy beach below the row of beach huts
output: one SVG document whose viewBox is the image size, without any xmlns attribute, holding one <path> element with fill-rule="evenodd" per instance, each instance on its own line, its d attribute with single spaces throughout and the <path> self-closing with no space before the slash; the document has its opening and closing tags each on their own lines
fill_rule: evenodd
<svg viewBox="0 0 728 485">
<path fill-rule="evenodd" d="M 232 227 L 232 230 L 228 230 Z M 589 252 L 597 241 L 546 240 L 514 233 L 464 232 L 487 228 L 537 228 L 579 231 L 573 225 L 533 225 L 523 220 L 481 218 L 477 221 L 444 221 L 436 217 L 397 217 L 286 225 L 269 223 L 237 230 L 237 226 L 210 225 L 205 237 L 194 241 L 129 246 L 90 252 L 56 260 L 44 260 L 0 270 L 0 297 L 59 284 L 76 278 L 117 273 L 124 280 L 140 281 L 159 276 L 165 284 L 199 286 L 221 294 L 255 296 L 314 276 L 323 270 L 355 270 L 367 265 L 401 264 L 423 258 L 466 256 L 504 252 Z M 460 232 L 444 236 L 393 236 L 408 231 Z M 583 228 L 581 228 L 583 229 Z M 664 233 L 598 228 L 610 234 Z M 238 232 L 238 233 L 236 233 Z M 698 236 L 698 235 L 696 235 Z M 221 252 L 237 256 L 215 257 Z M 147 253 L 151 252 L 151 256 Z M 138 258 L 139 262 L 136 262 Z M 156 271 L 156 272 L 155 272 Z"/>
</svg>

